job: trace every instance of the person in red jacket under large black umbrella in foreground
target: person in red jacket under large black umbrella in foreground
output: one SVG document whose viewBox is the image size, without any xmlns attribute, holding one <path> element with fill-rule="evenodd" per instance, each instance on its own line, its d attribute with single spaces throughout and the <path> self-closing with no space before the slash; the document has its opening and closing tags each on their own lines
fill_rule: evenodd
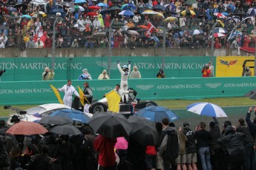
<svg viewBox="0 0 256 170">
<path fill-rule="evenodd" d="M 99 170 L 116 170 L 116 155 L 114 146 L 116 138 L 111 139 L 99 135 L 93 143 L 96 152 L 99 152 Z"/>
</svg>

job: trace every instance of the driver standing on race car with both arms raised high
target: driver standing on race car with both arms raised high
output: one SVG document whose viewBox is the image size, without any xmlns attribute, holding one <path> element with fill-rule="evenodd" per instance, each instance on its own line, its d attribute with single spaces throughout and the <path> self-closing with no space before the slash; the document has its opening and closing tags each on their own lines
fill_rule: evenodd
<svg viewBox="0 0 256 170">
<path fill-rule="evenodd" d="M 119 72 L 121 73 L 121 84 L 120 87 L 122 90 L 127 91 L 128 90 L 128 77 L 131 70 L 131 60 L 128 61 L 128 67 L 127 65 L 123 65 L 122 68 L 120 67 L 119 60 L 117 60 L 117 67 L 119 69 Z M 121 95 L 122 102 L 128 103 L 128 94 L 127 95 Z"/>
</svg>

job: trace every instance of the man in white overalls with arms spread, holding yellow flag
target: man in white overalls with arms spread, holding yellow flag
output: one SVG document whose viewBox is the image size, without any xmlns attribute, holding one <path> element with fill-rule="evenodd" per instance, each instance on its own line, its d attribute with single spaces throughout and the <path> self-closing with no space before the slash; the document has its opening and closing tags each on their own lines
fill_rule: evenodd
<svg viewBox="0 0 256 170">
<path fill-rule="evenodd" d="M 71 85 L 71 81 L 68 80 L 68 83 L 62 86 L 61 89 L 58 89 L 59 92 L 65 92 L 63 102 L 66 106 L 72 106 L 72 95 L 73 93 L 80 99 L 79 93 L 76 92 L 76 89 Z"/>
</svg>

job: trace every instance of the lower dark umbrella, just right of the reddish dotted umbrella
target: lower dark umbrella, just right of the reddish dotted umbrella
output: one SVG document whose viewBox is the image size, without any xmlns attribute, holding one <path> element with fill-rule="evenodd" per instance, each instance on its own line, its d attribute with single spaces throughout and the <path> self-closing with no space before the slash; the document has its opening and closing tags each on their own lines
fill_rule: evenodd
<svg viewBox="0 0 256 170">
<path fill-rule="evenodd" d="M 75 126 L 73 125 L 61 125 L 61 126 L 54 126 L 52 129 L 50 129 L 50 132 L 59 134 L 59 135 L 81 135 L 82 132 L 79 131 Z"/>
</svg>

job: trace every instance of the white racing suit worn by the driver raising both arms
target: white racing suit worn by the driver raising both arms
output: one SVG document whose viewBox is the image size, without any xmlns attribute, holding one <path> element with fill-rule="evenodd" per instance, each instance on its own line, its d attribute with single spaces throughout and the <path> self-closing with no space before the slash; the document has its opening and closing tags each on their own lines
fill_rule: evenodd
<svg viewBox="0 0 256 170">
<path fill-rule="evenodd" d="M 120 64 L 117 64 L 117 67 L 119 69 L 119 72 L 121 73 L 120 89 L 122 89 L 123 91 L 128 91 L 128 76 L 130 74 L 131 64 L 128 65 L 128 72 L 124 72 L 120 67 Z M 128 94 L 121 95 L 121 98 L 122 98 L 122 102 L 125 102 L 125 98 L 126 98 L 126 102 L 129 101 Z"/>
</svg>

